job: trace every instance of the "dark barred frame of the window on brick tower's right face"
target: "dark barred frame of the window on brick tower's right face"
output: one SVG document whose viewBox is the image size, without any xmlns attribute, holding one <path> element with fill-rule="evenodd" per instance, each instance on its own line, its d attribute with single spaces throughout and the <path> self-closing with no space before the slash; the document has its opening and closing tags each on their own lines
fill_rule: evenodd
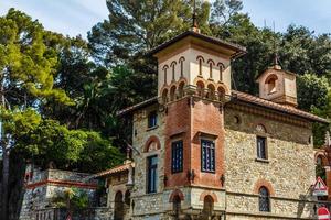
<svg viewBox="0 0 331 220">
<path fill-rule="evenodd" d="M 204 146 L 203 143 L 210 143 L 211 146 Z M 212 173 L 212 174 L 215 174 L 216 172 L 216 147 L 215 147 L 215 140 L 210 140 L 210 139 L 206 139 L 206 138 L 201 138 L 200 140 L 200 147 L 201 147 L 201 172 L 203 173 Z M 210 158 L 210 165 L 205 165 L 205 163 L 207 162 L 204 157 L 204 148 L 206 148 L 205 151 L 209 151 L 209 156 Z M 206 168 L 207 166 L 210 166 L 210 168 Z"/>
</svg>

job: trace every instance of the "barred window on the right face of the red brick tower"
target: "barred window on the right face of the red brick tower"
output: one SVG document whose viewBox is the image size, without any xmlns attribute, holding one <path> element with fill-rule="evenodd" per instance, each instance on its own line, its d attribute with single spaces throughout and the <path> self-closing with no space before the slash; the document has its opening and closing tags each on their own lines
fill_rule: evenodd
<svg viewBox="0 0 331 220">
<path fill-rule="evenodd" d="M 203 172 L 215 172 L 215 144 L 213 141 L 201 140 L 201 161 Z"/>
</svg>

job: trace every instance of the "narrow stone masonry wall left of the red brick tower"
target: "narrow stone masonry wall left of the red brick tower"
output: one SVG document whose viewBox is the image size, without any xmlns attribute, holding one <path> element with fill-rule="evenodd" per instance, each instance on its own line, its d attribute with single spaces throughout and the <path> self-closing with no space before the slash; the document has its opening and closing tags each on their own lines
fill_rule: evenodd
<svg viewBox="0 0 331 220">
<path fill-rule="evenodd" d="M 132 144 L 140 152 L 140 155 L 134 152 L 135 161 L 135 186 L 131 193 L 135 208 L 134 218 L 139 219 L 139 215 L 158 215 L 163 211 L 163 179 L 164 179 L 164 111 L 158 111 L 158 125 L 148 129 L 148 113 L 158 110 L 158 105 L 137 111 L 134 116 Z M 150 138 L 159 140 L 160 148 L 145 152 Z M 158 155 L 158 190 L 157 194 L 147 194 L 147 157 Z M 138 216 L 137 216 L 138 215 Z M 147 217 L 146 217 L 147 218 Z M 159 217 L 158 217 L 159 218 Z M 143 218 L 142 218 L 143 219 Z M 147 218 L 148 219 L 148 218 Z"/>
</svg>

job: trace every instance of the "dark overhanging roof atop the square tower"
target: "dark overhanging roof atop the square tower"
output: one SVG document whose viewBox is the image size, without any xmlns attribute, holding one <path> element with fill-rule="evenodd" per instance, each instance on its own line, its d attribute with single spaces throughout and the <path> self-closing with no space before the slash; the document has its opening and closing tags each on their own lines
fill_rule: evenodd
<svg viewBox="0 0 331 220">
<path fill-rule="evenodd" d="M 237 55 L 242 55 L 242 54 L 246 53 L 246 48 L 244 46 L 241 46 L 241 45 L 237 45 L 237 44 L 233 44 L 233 43 L 228 43 L 228 42 L 222 41 L 220 38 L 207 36 L 207 35 L 194 32 L 194 31 L 186 31 L 186 32 L 183 32 L 183 33 L 177 35 L 175 37 L 171 38 L 170 41 L 164 42 L 163 44 L 161 44 L 161 45 L 152 48 L 148 54 L 149 55 L 154 55 L 158 52 L 167 48 L 168 46 L 170 46 L 170 45 L 174 44 L 175 42 L 178 42 L 180 40 L 183 40 L 183 38 L 185 38 L 188 36 L 193 36 L 195 38 L 200 38 L 200 40 L 210 42 L 212 44 L 216 44 L 216 45 L 226 47 L 228 50 L 233 50 L 233 51 L 236 52 Z"/>
</svg>

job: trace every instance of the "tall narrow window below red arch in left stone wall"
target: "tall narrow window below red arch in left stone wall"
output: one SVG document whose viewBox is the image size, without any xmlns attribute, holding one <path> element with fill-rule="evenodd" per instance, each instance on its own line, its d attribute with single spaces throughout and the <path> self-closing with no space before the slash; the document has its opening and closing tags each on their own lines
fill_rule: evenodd
<svg viewBox="0 0 331 220">
<path fill-rule="evenodd" d="M 147 193 L 157 193 L 158 186 L 158 156 L 147 158 Z"/>
</svg>

